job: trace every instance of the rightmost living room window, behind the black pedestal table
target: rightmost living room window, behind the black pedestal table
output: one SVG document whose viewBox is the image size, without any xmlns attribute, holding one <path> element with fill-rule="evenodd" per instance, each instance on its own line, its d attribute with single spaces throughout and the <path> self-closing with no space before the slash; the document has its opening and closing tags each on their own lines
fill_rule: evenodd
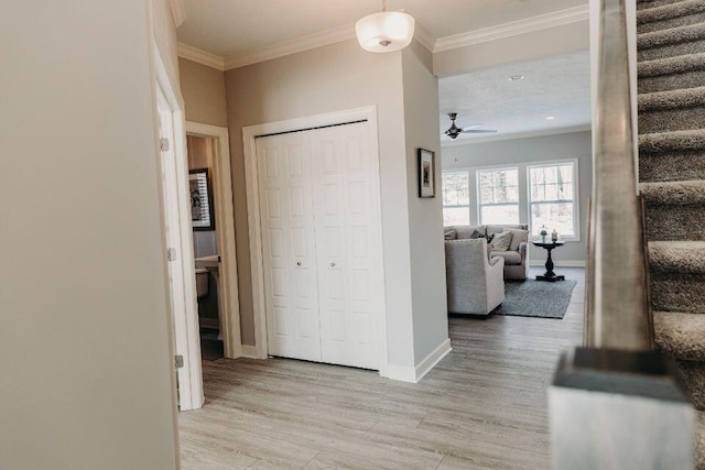
<svg viewBox="0 0 705 470">
<path fill-rule="evenodd" d="M 564 239 L 576 239 L 576 162 L 529 166 L 529 215 L 532 234 L 542 225 Z"/>
</svg>

